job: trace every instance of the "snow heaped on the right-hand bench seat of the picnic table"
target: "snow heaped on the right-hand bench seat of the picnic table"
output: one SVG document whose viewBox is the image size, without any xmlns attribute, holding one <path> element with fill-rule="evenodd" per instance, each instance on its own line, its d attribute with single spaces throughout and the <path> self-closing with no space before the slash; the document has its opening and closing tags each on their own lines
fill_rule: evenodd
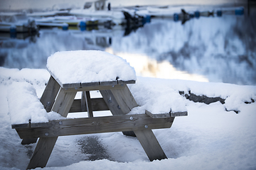
<svg viewBox="0 0 256 170">
<path fill-rule="evenodd" d="M 129 88 L 140 106 L 133 108 L 129 114 L 145 113 L 145 110 L 153 114 L 187 111 L 184 98 L 178 91 L 158 79 L 148 81 L 139 78 Z"/>
</svg>

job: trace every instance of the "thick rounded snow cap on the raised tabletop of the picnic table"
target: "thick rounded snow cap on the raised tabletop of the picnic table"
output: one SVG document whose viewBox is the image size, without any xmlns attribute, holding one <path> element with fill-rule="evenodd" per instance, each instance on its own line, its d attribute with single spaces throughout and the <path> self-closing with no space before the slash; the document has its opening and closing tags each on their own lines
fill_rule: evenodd
<svg viewBox="0 0 256 170">
<path fill-rule="evenodd" d="M 55 52 L 48 57 L 48 71 L 62 84 L 136 80 L 133 67 L 121 57 L 96 50 Z"/>
</svg>

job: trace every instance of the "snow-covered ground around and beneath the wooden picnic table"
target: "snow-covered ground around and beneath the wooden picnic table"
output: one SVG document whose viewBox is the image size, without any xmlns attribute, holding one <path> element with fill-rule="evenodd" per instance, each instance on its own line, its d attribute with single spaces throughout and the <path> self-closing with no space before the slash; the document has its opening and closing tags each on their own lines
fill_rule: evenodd
<svg viewBox="0 0 256 170">
<path fill-rule="evenodd" d="M 0 169 L 26 169 L 36 147 L 21 145 L 11 129 L 9 86 L 26 81 L 40 98 L 49 77 L 46 69 L 0 67 Z M 256 169 L 256 86 L 137 77 L 137 83 L 142 82 L 163 90 L 224 98 L 225 103 L 207 105 L 183 97 L 188 116 L 177 117 L 169 129 L 154 130 L 168 159 L 149 162 L 137 138 L 112 132 L 59 137 L 44 169 Z M 129 88 L 137 90 L 133 85 Z M 106 114 L 110 113 L 99 113 Z"/>
</svg>

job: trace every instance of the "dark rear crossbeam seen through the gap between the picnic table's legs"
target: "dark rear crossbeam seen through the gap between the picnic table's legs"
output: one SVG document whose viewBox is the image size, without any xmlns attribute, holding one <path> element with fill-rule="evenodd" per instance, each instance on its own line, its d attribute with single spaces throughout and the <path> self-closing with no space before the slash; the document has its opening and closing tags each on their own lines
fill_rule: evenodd
<svg viewBox="0 0 256 170">
<path fill-rule="evenodd" d="M 103 98 L 91 98 L 92 101 L 92 111 L 110 111 L 110 108 L 108 108 L 107 104 L 105 103 Z M 81 109 L 81 99 L 75 99 L 73 101 L 73 104 L 70 108 L 69 113 L 75 113 L 75 112 L 86 112 L 86 103 L 85 103 L 85 110 Z"/>
</svg>

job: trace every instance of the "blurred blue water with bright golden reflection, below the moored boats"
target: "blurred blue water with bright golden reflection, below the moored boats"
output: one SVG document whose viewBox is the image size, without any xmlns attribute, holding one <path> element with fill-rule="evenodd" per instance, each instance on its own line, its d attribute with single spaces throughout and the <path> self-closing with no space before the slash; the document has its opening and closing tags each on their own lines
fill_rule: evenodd
<svg viewBox="0 0 256 170">
<path fill-rule="evenodd" d="M 0 40 L 1 67 L 45 68 L 64 50 L 106 50 L 124 57 L 138 75 L 256 85 L 255 16 L 151 23 L 126 30 L 40 30 L 38 37 Z M 124 36 L 126 35 L 126 36 Z"/>
</svg>

